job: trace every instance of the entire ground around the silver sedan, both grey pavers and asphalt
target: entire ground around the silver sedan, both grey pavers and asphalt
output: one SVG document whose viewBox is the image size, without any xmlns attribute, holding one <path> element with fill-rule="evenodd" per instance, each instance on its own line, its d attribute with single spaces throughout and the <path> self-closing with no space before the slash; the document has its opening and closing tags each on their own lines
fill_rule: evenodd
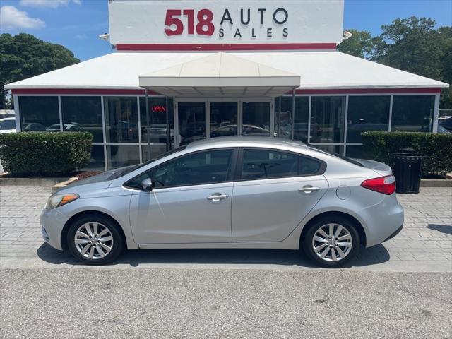
<svg viewBox="0 0 452 339">
<path fill-rule="evenodd" d="M 296 251 L 129 251 L 83 266 L 40 237 L 48 187 L 0 186 L 1 338 L 452 338 L 452 189 L 340 270 Z"/>
</svg>

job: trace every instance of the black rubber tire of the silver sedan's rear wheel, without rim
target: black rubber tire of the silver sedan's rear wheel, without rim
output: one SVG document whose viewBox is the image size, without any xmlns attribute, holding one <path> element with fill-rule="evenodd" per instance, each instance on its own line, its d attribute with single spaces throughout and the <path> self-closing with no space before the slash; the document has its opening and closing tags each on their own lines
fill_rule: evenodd
<svg viewBox="0 0 452 339">
<path fill-rule="evenodd" d="M 328 261 L 328 259 L 331 258 L 321 258 L 316 252 L 314 251 L 313 246 L 313 239 L 314 235 L 316 234 L 317 230 L 319 230 L 320 227 L 323 227 L 328 224 L 335 224 L 340 225 L 344 227 L 349 233 L 352 238 L 352 246 L 350 251 L 347 252 L 346 256 L 344 258 L 340 258 L 338 261 Z M 319 218 L 318 220 L 312 222 L 311 224 L 307 225 L 309 227 L 307 229 L 307 232 L 304 232 L 303 238 L 300 241 L 300 246 L 303 248 L 304 253 L 312 260 L 314 263 L 316 263 L 319 266 L 326 267 L 326 268 L 339 268 L 343 267 L 345 263 L 350 261 L 352 258 L 355 258 L 357 251 L 359 249 L 359 234 L 357 232 L 356 226 L 353 222 L 350 222 L 350 220 L 347 220 L 347 218 L 343 218 L 341 216 L 326 216 L 324 218 Z M 337 227 L 335 228 L 337 230 Z M 345 232 L 345 231 L 344 231 Z M 343 233 L 341 233 L 343 234 Z M 327 239 L 328 241 L 334 240 L 333 239 Z M 316 242 L 316 244 L 321 244 L 321 242 Z M 335 244 L 332 244 L 332 246 L 335 246 Z M 330 248 L 330 254 L 329 256 L 332 257 L 331 253 L 331 246 L 327 245 L 324 247 Z M 344 249 L 344 248 L 342 248 Z M 341 249 L 341 250 L 342 250 Z M 321 251 L 319 251 L 320 253 Z M 338 253 L 337 251 L 335 253 Z"/>
</svg>

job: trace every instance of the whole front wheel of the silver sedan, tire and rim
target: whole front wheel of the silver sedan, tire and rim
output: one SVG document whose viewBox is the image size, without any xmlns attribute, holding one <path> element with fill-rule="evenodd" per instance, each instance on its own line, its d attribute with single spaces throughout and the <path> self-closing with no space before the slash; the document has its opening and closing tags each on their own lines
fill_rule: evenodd
<svg viewBox="0 0 452 339">
<path fill-rule="evenodd" d="M 109 263 L 124 248 L 117 225 L 102 215 L 85 216 L 73 222 L 67 244 L 71 254 L 88 265 Z"/>
</svg>

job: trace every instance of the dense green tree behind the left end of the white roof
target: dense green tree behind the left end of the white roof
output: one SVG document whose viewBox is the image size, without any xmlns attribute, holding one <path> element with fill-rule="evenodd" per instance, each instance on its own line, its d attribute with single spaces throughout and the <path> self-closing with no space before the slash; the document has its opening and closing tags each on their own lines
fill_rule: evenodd
<svg viewBox="0 0 452 339">
<path fill-rule="evenodd" d="M 7 105 L 4 85 L 80 62 L 73 52 L 33 35 L 0 35 L 0 108 Z"/>
</svg>

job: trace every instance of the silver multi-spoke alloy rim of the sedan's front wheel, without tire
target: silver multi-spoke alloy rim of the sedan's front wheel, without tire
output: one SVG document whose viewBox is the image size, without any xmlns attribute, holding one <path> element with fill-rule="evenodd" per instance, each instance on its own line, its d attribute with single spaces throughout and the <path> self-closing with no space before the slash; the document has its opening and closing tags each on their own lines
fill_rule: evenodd
<svg viewBox="0 0 452 339">
<path fill-rule="evenodd" d="M 100 222 L 86 222 L 74 236 L 77 251 L 89 259 L 105 258 L 113 247 L 113 234 Z"/>
</svg>

